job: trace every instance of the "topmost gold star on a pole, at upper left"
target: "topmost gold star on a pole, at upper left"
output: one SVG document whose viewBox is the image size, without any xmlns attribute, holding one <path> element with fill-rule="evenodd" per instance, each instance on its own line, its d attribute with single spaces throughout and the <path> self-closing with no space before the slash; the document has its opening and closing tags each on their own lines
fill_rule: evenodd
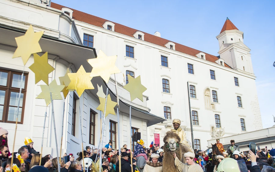
<svg viewBox="0 0 275 172">
<path fill-rule="evenodd" d="M 13 58 L 22 57 L 23 63 L 25 65 L 31 54 L 42 52 L 38 42 L 43 33 L 44 31 L 34 32 L 32 25 L 30 25 L 25 35 L 15 38 L 17 48 L 13 54 Z"/>
</svg>

